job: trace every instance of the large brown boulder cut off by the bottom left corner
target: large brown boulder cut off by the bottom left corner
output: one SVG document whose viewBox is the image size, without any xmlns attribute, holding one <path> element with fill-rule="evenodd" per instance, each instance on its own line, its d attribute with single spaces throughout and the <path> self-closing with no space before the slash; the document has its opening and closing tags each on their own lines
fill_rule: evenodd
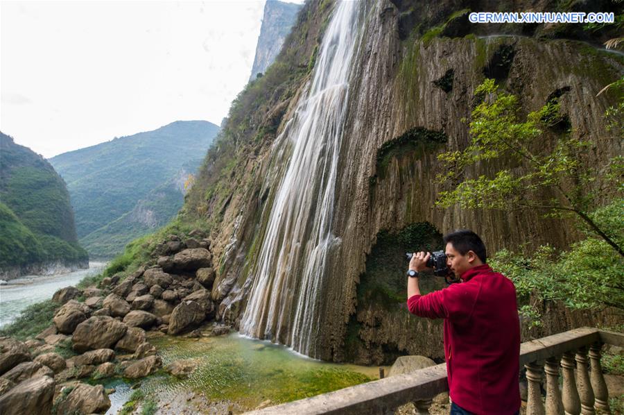
<svg viewBox="0 0 624 415">
<path fill-rule="evenodd" d="M 0 410 L 2 415 L 50 414 L 53 396 L 53 378 L 31 378 L 0 396 Z"/>
</svg>

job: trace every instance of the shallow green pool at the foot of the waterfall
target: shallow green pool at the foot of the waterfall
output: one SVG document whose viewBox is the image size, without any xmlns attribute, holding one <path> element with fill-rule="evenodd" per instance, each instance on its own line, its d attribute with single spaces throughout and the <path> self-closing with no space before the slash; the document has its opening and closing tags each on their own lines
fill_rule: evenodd
<svg viewBox="0 0 624 415">
<path fill-rule="evenodd" d="M 236 333 L 200 339 L 165 336 L 150 343 L 156 346 L 163 366 L 178 359 L 197 363 L 189 378 L 157 374 L 141 383 L 141 391 L 161 401 L 193 391 L 208 400 L 229 400 L 253 409 L 266 400 L 275 405 L 368 382 L 379 373 L 377 367 L 320 362 Z M 109 413 L 115 413 L 131 392 L 119 383 L 115 386 Z"/>
</svg>

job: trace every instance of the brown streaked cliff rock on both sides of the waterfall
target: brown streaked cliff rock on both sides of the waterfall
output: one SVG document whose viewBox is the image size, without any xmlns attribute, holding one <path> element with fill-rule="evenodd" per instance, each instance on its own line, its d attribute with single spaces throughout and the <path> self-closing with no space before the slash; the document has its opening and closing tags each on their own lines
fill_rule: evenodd
<svg viewBox="0 0 624 415">
<path fill-rule="evenodd" d="M 472 4 L 478 11 L 490 6 Z M 548 4 L 507 6 L 546 10 Z M 314 62 L 331 7 L 327 1 L 306 4 L 274 65 L 290 62 L 299 76 L 284 83 L 263 79 L 241 93 L 184 207 L 184 214 L 211 226 L 219 258 L 213 298 L 221 301 L 218 316 L 234 325 L 245 312 L 250 276 L 286 169 L 275 157 L 280 144 L 273 139 L 288 129 L 297 99 L 309 87 L 303 68 Z M 405 264 L 392 260 L 403 249 L 435 248 L 440 234 L 454 228 L 478 232 L 490 253 L 526 242 L 563 247 L 578 238 L 573 223 L 544 219 L 539 212 L 435 207 L 443 190 L 435 180 L 442 172 L 437 154 L 467 145 L 462 118 L 470 117 L 473 92 L 485 76 L 517 94 L 525 113 L 560 94 L 573 135 L 594 145 L 588 165 L 621 154 L 620 142 L 601 138 L 607 137 L 603 114 L 616 97 L 596 96 L 624 73 L 621 55 L 576 40 L 548 39 L 544 33 L 551 29 L 539 25 L 510 28 L 527 36 L 492 36 L 505 27 L 467 24 L 466 7 L 461 1 L 431 8 L 380 1 L 363 10 L 365 32 L 352 66 L 333 201 L 331 232 L 339 243 L 329 253 L 318 296 L 314 357 L 379 363 L 405 353 L 441 356 L 440 325 L 409 316 L 404 306 Z M 575 28 L 569 32 L 579 37 Z M 251 106 L 261 91 L 268 99 Z M 250 117 L 237 118 L 244 105 L 253 108 Z M 469 173 L 478 176 L 496 167 L 478 166 Z M 439 282 L 433 280 L 428 289 L 435 287 Z M 296 295 L 297 289 L 288 287 L 284 295 Z M 581 320 L 564 319 L 569 325 Z"/>
</svg>

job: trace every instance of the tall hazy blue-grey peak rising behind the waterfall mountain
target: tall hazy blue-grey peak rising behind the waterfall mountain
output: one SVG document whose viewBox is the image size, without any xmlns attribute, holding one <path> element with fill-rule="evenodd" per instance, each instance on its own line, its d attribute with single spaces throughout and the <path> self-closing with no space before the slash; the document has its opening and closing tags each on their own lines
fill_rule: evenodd
<svg viewBox="0 0 624 415">
<path fill-rule="evenodd" d="M 302 5 L 296 3 L 266 1 L 250 81 L 257 78 L 258 74 L 263 74 L 273 63 L 286 36 L 291 32 L 301 8 Z"/>
</svg>

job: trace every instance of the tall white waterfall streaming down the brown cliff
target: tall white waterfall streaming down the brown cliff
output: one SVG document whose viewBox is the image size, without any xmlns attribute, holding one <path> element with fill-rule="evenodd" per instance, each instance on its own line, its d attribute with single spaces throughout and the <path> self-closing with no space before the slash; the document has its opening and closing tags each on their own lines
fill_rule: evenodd
<svg viewBox="0 0 624 415">
<path fill-rule="evenodd" d="M 311 356 L 316 355 L 329 251 L 340 244 L 331 232 L 334 192 L 365 3 L 336 3 L 309 90 L 276 139 L 273 152 L 290 158 L 250 273 L 252 287 L 240 325 L 243 334 Z"/>
</svg>

